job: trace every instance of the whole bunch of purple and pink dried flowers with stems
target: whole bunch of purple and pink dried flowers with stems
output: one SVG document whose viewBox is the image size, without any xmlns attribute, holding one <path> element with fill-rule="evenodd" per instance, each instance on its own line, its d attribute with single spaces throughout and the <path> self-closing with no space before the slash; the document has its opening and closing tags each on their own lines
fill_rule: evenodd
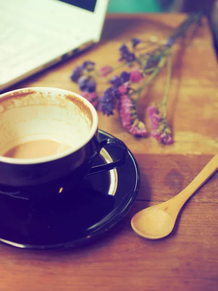
<svg viewBox="0 0 218 291">
<path fill-rule="evenodd" d="M 81 95 L 87 98 L 95 108 L 102 110 L 104 114 L 113 114 L 116 109 L 120 114 L 122 125 L 127 131 L 134 136 L 146 136 L 147 130 L 143 122 L 138 118 L 136 112 L 136 104 L 143 92 L 145 86 L 154 80 L 161 68 L 168 63 L 168 77 L 166 81 L 166 89 L 162 101 L 158 107 L 149 107 L 148 114 L 151 121 L 151 135 L 161 144 L 167 145 L 173 142 L 171 129 L 167 123 L 166 105 L 169 96 L 171 83 L 171 56 L 169 52 L 175 41 L 182 37 L 189 27 L 194 23 L 199 23 L 199 19 L 203 16 L 202 12 L 193 13 L 179 25 L 171 34 L 165 45 L 158 45 L 156 49 L 144 48 L 137 46 L 141 43 L 139 38 L 131 39 L 131 47 L 125 43 L 119 48 L 120 59 L 123 64 L 112 68 L 105 65 L 96 70 L 95 63 L 85 61 L 81 66 L 77 66 L 72 72 L 71 80 L 78 82 L 82 91 Z M 156 40 L 150 39 L 150 42 Z M 143 42 L 146 44 L 147 42 Z M 144 49 L 144 52 L 142 50 Z M 134 65 L 132 71 L 127 66 Z M 109 81 L 110 87 L 105 90 L 104 96 L 99 104 L 99 97 L 96 93 L 96 77 L 108 76 L 115 69 L 125 66 L 126 69 L 119 76 L 114 76 Z M 138 83 L 138 84 L 137 84 Z M 134 97 L 134 98 L 133 98 Z"/>
</svg>

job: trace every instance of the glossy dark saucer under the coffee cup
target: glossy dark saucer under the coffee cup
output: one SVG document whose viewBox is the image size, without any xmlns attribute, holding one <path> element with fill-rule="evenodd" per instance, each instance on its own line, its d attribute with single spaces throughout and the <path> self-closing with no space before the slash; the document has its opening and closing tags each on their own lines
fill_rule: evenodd
<svg viewBox="0 0 218 291">
<path fill-rule="evenodd" d="M 111 137 L 99 130 L 100 140 Z M 95 164 L 116 160 L 108 146 Z M 0 195 L 0 242 L 30 249 L 78 246 L 104 234 L 127 214 L 139 189 L 138 164 L 129 151 L 116 170 L 91 175 L 73 192 L 29 200 Z M 76 192 L 76 193 L 75 193 Z"/>
</svg>

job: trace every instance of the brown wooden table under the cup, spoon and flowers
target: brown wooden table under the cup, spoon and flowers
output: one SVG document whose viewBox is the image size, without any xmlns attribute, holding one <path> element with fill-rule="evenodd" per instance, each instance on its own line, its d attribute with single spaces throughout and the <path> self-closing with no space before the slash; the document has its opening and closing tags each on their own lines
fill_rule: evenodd
<svg viewBox="0 0 218 291">
<path fill-rule="evenodd" d="M 14 88 L 51 86 L 78 92 L 69 79 L 84 60 L 114 64 L 123 41 L 152 35 L 165 39 L 184 15 L 108 16 L 101 43 Z M 100 128 L 122 139 L 139 162 L 137 201 L 106 238 L 77 250 L 30 251 L 0 245 L 0 291 L 156 291 L 218 290 L 218 174 L 182 211 L 173 233 L 160 241 L 138 237 L 130 227 L 134 213 L 179 193 L 218 153 L 218 72 L 209 28 L 204 26 L 175 48 L 169 119 L 175 143 L 135 139 L 115 114 L 99 113 Z M 163 96 L 164 70 L 140 102 L 140 117 L 151 100 Z"/>
</svg>

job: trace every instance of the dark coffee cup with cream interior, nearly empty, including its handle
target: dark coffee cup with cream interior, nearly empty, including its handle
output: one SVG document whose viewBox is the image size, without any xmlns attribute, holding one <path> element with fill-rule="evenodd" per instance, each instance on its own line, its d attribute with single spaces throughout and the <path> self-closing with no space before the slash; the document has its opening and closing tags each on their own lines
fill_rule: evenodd
<svg viewBox="0 0 218 291">
<path fill-rule="evenodd" d="M 120 158 L 93 167 L 93 159 L 106 145 L 119 147 Z M 3 187 L 52 183 L 63 187 L 67 177 L 74 186 L 87 175 L 122 165 L 126 153 L 126 146 L 119 139 L 98 141 L 97 112 L 78 94 L 58 88 L 32 87 L 0 95 L 0 185 Z"/>
</svg>

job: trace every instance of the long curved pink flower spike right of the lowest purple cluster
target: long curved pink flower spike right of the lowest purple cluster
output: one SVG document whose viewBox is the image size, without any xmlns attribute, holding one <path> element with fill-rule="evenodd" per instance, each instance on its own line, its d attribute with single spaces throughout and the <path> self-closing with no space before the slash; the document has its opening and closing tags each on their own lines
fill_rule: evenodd
<svg viewBox="0 0 218 291">
<path fill-rule="evenodd" d="M 134 101 L 128 95 L 121 95 L 118 111 L 122 125 L 129 133 L 137 137 L 147 135 L 144 123 L 138 118 Z"/>
</svg>

